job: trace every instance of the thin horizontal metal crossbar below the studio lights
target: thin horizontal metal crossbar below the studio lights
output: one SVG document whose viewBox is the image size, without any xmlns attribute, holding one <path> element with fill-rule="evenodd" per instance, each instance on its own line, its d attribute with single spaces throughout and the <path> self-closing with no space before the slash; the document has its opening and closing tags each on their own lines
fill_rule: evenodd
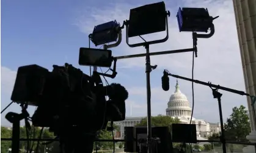
<svg viewBox="0 0 256 153">
<path fill-rule="evenodd" d="M 149 55 L 165 55 L 165 54 L 175 54 L 175 53 L 181 53 L 181 52 L 192 52 L 194 51 L 193 48 L 188 48 L 188 49 L 177 49 L 177 50 L 172 50 L 172 51 L 161 51 L 161 52 L 151 52 Z M 117 56 L 115 57 L 116 59 L 131 59 L 134 57 L 145 57 L 146 54 L 133 54 L 133 55 L 123 55 L 123 56 Z"/>
</svg>

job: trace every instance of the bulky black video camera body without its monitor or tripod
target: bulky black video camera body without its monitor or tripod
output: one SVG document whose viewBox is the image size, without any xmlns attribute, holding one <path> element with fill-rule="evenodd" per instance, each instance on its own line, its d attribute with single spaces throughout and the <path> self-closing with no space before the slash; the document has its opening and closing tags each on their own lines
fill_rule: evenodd
<svg viewBox="0 0 256 153">
<path fill-rule="evenodd" d="M 74 127 L 93 133 L 105 129 L 108 121 L 124 120 L 127 98 L 122 85 L 104 87 L 97 72 L 90 77 L 68 63 L 53 65 L 52 72 L 38 65 L 21 66 L 11 97 L 18 104 L 37 106 L 32 124 L 49 127 L 56 135 Z"/>
</svg>

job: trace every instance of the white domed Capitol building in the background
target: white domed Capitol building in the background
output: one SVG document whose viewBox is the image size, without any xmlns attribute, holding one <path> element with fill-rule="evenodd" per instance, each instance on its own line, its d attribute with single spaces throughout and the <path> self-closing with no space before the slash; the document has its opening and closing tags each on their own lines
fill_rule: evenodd
<svg viewBox="0 0 256 153">
<path fill-rule="evenodd" d="M 170 96 L 169 102 L 167 103 L 166 115 L 172 118 L 180 119 L 180 123 L 189 124 L 191 120 L 192 109 L 189 106 L 189 101 L 185 94 L 181 93 L 180 86 L 175 86 L 175 91 Z M 124 121 L 115 122 L 117 126 L 120 126 L 120 138 L 124 136 L 124 127 L 136 126 L 137 123 L 141 122 L 141 119 L 145 117 L 126 117 Z M 221 124 L 219 123 L 208 123 L 203 119 L 192 118 L 192 123 L 196 124 L 197 139 L 208 138 L 213 133 L 221 132 Z"/>
</svg>

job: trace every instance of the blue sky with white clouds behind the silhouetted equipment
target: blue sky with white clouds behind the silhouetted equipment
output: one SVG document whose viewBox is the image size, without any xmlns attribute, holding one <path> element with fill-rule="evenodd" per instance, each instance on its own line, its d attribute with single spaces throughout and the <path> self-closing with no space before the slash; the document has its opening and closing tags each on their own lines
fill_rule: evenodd
<svg viewBox="0 0 256 153">
<path fill-rule="evenodd" d="M 88 35 L 93 27 L 108 21 L 123 23 L 129 19 L 130 9 L 159 1 L 93 1 L 93 0 L 45 0 L 45 1 L 1 1 L 1 110 L 10 103 L 16 71 L 19 66 L 37 64 L 51 71 L 52 65 L 70 63 L 89 74 L 88 66 L 78 65 L 79 48 L 89 47 Z M 240 49 L 235 25 L 232 1 L 229 0 L 173 0 L 165 1 L 170 11 L 169 40 L 150 46 L 150 52 L 170 51 L 192 48 L 191 32 L 179 32 L 175 17 L 179 7 L 208 8 L 214 20 L 215 34 L 197 42 L 198 57 L 195 58 L 194 79 L 211 81 L 224 87 L 245 90 Z M 164 38 L 165 32 L 144 36 L 147 41 Z M 117 48 L 112 48 L 112 55 L 130 55 L 145 53 L 143 47 L 130 48 L 123 41 Z M 142 42 L 131 38 L 130 43 Z M 91 43 L 92 44 L 92 43 Z M 99 48 L 99 46 L 92 48 Z M 152 115 L 166 114 L 167 102 L 174 92 L 176 79 L 170 77 L 170 90 L 161 88 L 163 70 L 191 78 L 192 52 L 158 55 L 151 57 L 152 65 L 158 67 L 152 71 Z M 105 71 L 106 68 L 103 68 Z M 129 92 L 126 101 L 126 116 L 146 116 L 147 96 L 145 81 L 145 57 L 117 61 L 117 77 L 108 82 L 122 84 Z M 178 80 L 180 90 L 192 107 L 191 82 Z M 245 105 L 246 97 L 227 91 L 221 91 L 224 121 L 235 106 Z M 219 110 L 217 99 L 213 99 L 209 87 L 194 84 L 194 118 L 218 123 Z M 49 106 L 51 107 L 51 106 Z M 29 107 L 32 116 L 35 107 Z M 18 104 L 12 104 L 1 115 L 1 126 L 9 126 L 4 118 L 7 112 L 20 113 Z"/>
</svg>

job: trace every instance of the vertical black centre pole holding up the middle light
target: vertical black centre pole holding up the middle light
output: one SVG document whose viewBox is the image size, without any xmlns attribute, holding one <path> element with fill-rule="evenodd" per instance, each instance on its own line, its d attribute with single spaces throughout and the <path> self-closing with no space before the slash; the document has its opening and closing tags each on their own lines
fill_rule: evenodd
<svg viewBox="0 0 256 153">
<path fill-rule="evenodd" d="M 150 91 L 150 72 L 152 71 L 150 65 L 149 45 L 146 48 L 146 76 L 147 76 L 147 152 L 152 152 L 152 127 L 151 127 L 151 91 Z"/>
</svg>

